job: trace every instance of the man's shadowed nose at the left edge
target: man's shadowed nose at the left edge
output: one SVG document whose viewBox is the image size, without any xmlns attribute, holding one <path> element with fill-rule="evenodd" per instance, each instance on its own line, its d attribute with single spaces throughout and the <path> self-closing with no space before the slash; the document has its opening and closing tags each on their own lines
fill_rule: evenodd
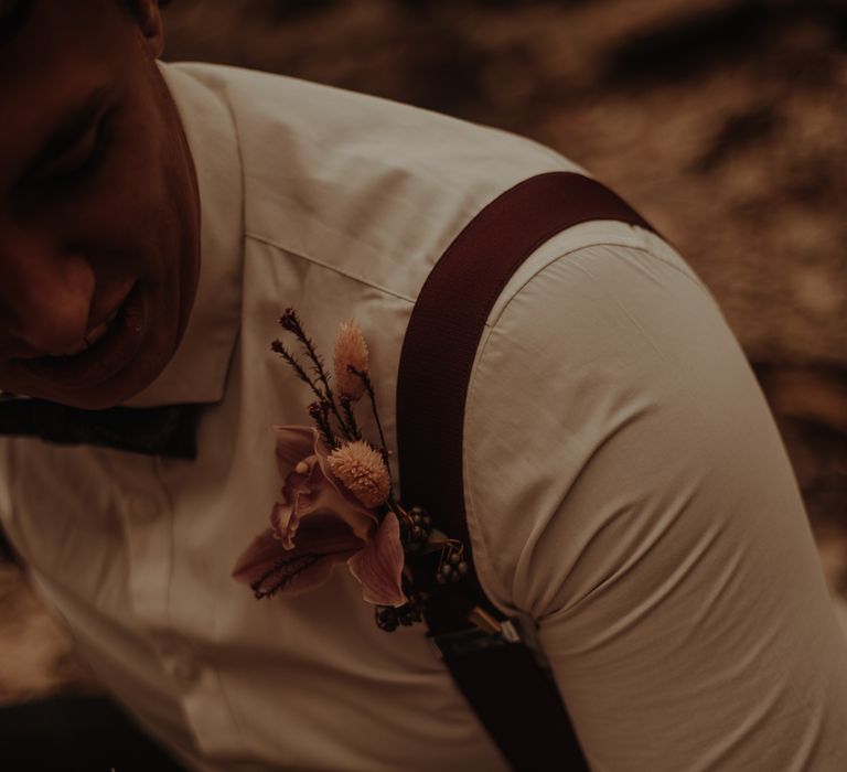
<svg viewBox="0 0 847 772">
<path fill-rule="evenodd" d="M 49 233 L 0 222 L 0 340 L 24 356 L 85 345 L 95 275 Z"/>
</svg>

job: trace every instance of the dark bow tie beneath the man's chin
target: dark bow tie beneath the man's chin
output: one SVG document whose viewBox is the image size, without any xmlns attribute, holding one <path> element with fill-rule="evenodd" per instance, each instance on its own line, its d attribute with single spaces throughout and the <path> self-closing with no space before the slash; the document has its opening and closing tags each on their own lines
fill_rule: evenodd
<svg viewBox="0 0 847 772">
<path fill-rule="evenodd" d="M 132 453 L 196 457 L 202 405 L 82 410 L 44 399 L 0 399 L 0 435 L 60 444 L 95 444 Z"/>
</svg>

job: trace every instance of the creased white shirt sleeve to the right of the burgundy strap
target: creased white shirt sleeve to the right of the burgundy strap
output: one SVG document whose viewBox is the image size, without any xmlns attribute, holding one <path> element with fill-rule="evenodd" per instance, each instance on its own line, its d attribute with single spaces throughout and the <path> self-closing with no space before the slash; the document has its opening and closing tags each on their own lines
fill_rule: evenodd
<svg viewBox="0 0 847 772">
<path fill-rule="evenodd" d="M 592 769 L 847 769 L 847 644 L 714 299 L 652 237 L 548 248 L 512 289 L 469 388 L 469 527 Z"/>
</svg>

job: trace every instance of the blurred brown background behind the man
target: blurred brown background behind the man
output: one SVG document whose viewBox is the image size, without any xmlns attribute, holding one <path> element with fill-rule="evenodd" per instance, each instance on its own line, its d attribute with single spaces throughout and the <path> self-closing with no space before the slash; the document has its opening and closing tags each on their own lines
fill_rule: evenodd
<svg viewBox="0 0 847 772">
<path fill-rule="evenodd" d="M 174 0 L 169 60 L 285 73 L 551 146 L 711 288 L 847 592 L 847 0 Z M 87 688 L 0 566 L 0 701 Z"/>
</svg>

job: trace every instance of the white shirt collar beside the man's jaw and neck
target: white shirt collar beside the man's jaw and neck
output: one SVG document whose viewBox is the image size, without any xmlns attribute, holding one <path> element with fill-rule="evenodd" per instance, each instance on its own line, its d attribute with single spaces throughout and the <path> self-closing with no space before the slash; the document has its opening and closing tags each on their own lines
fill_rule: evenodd
<svg viewBox="0 0 847 772">
<path fill-rule="evenodd" d="M 200 283 L 185 333 L 162 373 L 129 399 L 131 407 L 216 403 L 239 329 L 244 186 L 233 116 L 207 86 L 160 64 L 176 103 L 200 186 Z"/>
</svg>

